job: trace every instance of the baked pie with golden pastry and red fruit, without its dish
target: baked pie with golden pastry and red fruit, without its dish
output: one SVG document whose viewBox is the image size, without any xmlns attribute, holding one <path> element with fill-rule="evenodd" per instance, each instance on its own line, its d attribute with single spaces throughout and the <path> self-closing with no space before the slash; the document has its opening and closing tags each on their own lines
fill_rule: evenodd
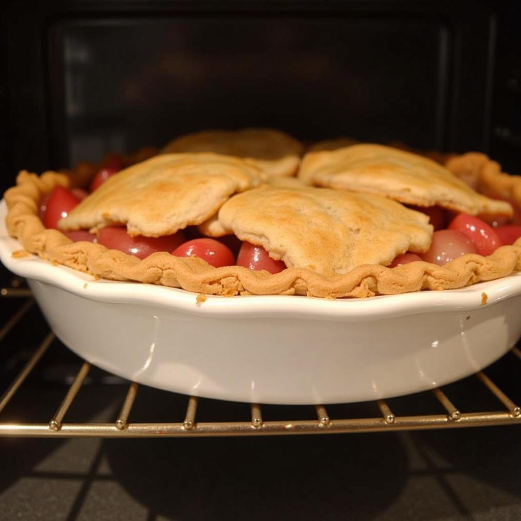
<svg viewBox="0 0 521 521">
<path fill-rule="evenodd" d="M 67 176 L 46 172 L 39 177 L 23 171 L 17 186 L 5 194 L 7 228 L 27 252 L 96 277 L 224 296 L 367 297 L 461 288 L 521 269 L 520 227 L 510 230 L 510 241 L 498 239 L 492 253 L 485 256 L 480 254 L 485 251 L 480 243 L 484 239 L 479 234 L 481 225 L 477 229 L 473 225 L 479 237 L 473 237 L 465 223 L 460 228 L 454 225 L 458 218 L 468 222 L 476 217 L 457 216 L 451 230 L 433 232 L 428 209 L 418 212 L 393 200 L 408 193 L 414 194 L 414 199 L 404 201 L 410 204 L 444 205 L 507 219 L 512 213 L 508 203 L 475 193 L 449 169 L 456 176 L 466 172 L 468 177 L 472 172 L 476 186 L 499 187 L 501 193 L 491 195 L 515 200 L 517 205 L 521 202 L 519 178 L 506 176 L 482 155 L 452 158 L 445 169 L 389 147 L 348 148 L 355 150 L 355 159 L 351 151 L 345 162 L 335 155 L 338 151 L 310 153 L 300 179 L 287 180 L 263 180 L 263 172 L 250 159 L 206 152 L 160 154 L 115 173 L 82 202 L 75 202 L 75 195 L 66 190 Z M 342 148 L 339 151 L 346 154 Z M 356 183 L 352 171 L 362 172 L 360 165 L 366 165 L 367 171 Z M 375 185 L 367 179 L 375 172 L 379 182 L 385 181 L 379 191 L 374 190 L 378 193 L 368 193 L 367 187 Z M 349 187 L 333 183 L 337 177 L 347 180 Z M 303 180 L 342 189 L 312 187 Z M 60 191 L 72 202 L 69 215 L 46 229 L 39 207 L 50 194 L 43 218 L 51 222 L 49 208 Z M 219 242 L 201 237 L 201 230 Z M 132 247 L 114 246 L 117 241 L 104 238 L 108 232 L 119 234 Z M 439 265 L 439 259 L 425 262 L 441 232 L 459 234 L 462 244 L 467 243 L 444 265 Z M 90 240 L 77 240 L 82 237 Z M 176 240 L 166 240 L 169 237 Z M 224 264 L 216 263 L 218 248 L 204 250 L 210 243 L 228 251 L 234 244 L 240 246 L 239 255 L 230 252 Z M 139 258 L 134 250 L 142 244 L 148 250 Z M 235 258 L 237 265 L 230 265 L 229 259 Z"/>
</svg>

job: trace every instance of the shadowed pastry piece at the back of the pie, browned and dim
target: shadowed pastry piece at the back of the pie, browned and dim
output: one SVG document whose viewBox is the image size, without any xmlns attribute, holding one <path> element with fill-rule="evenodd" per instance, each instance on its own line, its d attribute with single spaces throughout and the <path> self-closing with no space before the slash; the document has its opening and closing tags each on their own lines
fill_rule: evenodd
<svg viewBox="0 0 521 521">
<path fill-rule="evenodd" d="M 162 153 L 215 152 L 249 159 L 267 176 L 293 176 L 299 167 L 302 145 L 274 129 L 207 130 L 183 135 Z"/>
</svg>

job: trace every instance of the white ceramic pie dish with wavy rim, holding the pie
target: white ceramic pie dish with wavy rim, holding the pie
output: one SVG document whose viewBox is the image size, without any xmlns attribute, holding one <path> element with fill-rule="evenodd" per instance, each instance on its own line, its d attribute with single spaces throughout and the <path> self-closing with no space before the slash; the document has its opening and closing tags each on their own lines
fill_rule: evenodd
<svg viewBox="0 0 521 521">
<path fill-rule="evenodd" d="M 208 296 L 94 281 L 38 257 L 13 258 L 0 203 L 0 259 L 26 277 L 72 351 L 160 389 L 257 403 L 390 398 L 455 381 L 521 336 L 521 274 L 451 291 L 370 299 Z M 483 305 L 483 293 L 487 304 Z"/>
</svg>

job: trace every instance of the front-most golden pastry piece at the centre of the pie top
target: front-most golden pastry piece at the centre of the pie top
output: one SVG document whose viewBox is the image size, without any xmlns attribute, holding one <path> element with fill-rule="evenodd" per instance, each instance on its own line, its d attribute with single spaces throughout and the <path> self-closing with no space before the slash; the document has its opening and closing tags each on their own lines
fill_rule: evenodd
<svg viewBox="0 0 521 521">
<path fill-rule="evenodd" d="M 432 235 L 428 220 L 377 195 L 311 187 L 250 190 L 232 197 L 218 214 L 228 233 L 263 246 L 288 267 L 321 275 L 426 251 Z"/>
</svg>

